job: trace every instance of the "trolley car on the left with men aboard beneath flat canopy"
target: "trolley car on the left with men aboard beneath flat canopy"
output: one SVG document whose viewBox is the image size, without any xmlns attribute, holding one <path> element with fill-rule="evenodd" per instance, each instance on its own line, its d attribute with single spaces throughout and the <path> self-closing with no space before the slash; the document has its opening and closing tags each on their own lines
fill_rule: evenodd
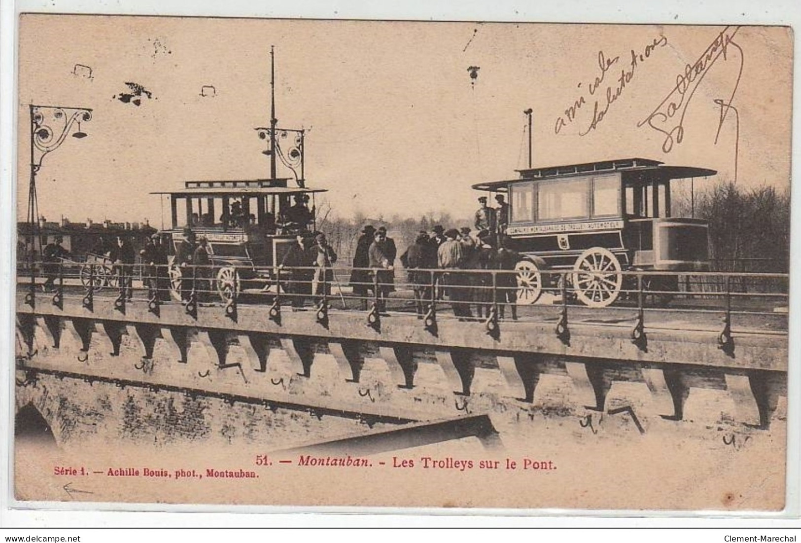
<svg viewBox="0 0 801 543">
<path fill-rule="evenodd" d="M 211 288 L 223 302 L 235 299 L 244 288 L 277 288 L 277 267 L 296 243 L 297 233 L 314 228 L 312 210 L 308 223 L 287 219 L 292 200 L 324 191 L 288 187 L 288 179 L 251 179 L 187 181 L 180 191 L 151 193 L 170 198 L 171 229 L 163 233 L 168 239 L 171 296 L 181 300 L 183 274 L 188 273 L 175 262 L 187 229 L 207 239 Z"/>
</svg>

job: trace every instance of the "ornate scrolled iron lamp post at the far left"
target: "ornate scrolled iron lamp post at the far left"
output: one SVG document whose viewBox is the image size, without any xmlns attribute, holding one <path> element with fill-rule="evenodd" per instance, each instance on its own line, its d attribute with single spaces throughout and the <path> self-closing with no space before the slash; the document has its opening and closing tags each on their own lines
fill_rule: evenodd
<svg viewBox="0 0 801 543">
<path fill-rule="evenodd" d="M 28 186 L 28 223 L 30 225 L 30 289 L 35 291 L 34 252 L 39 239 L 38 202 L 36 199 L 36 174 L 42 168 L 42 160 L 66 140 L 67 136 L 83 139 L 81 123 L 92 119 L 92 111 L 86 107 L 36 106 L 30 104 L 30 184 Z M 39 247 L 42 241 L 39 239 Z M 32 292 L 30 302 L 32 304 Z"/>
</svg>

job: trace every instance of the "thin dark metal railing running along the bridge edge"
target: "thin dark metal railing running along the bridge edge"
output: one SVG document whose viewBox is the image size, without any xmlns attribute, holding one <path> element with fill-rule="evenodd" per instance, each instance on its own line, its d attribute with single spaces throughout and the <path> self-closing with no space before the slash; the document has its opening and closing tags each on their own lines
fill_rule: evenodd
<svg viewBox="0 0 801 543">
<path fill-rule="evenodd" d="M 139 268 L 139 267 L 138 267 Z M 700 278 L 686 289 L 686 277 Z M 162 304 L 183 304 L 187 312 L 219 312 L 232 316 L 238 305 L 264 305 L 271 316 L 281 308 L 316 311 L 318 320 L 329 312 L 364 312 L 368 324 L 382 317 L 416 314 L 425 328 L 438 320 L 483 321 L 487 333 L 500 323 L 516 320 L 555 324 L 557 334 L 569 335 L 578 317 L 596 325 L 634 324 L 632 340 L 650 323 L 694 321 L 703 316 L 720 328 L 722 344 L 732 325 L 741 330 L 786 333 L 787 274 L 699 272 L 574 272 L 542 270 L 521 277 L 497 269 L 375 269 L 353 267 L 234 267 L 39 262 L 18 271 L 18 288 L 26 303 L 62 306 L 82 300 L 91 308 L 95 296 L 115 297 L 115 308 L 147 304 L 156 312 Z M 708 288 L 710 284 L 715 288 Z M 718 286 L 719 285 L 719 286 Z M 743 288 L 747 285 L 747 288 Z M 37 301 L 38 300 L 38 301 Z M 670 316 L 673 314 L 673 316 Z M 603 319 L 594 319 L 603 315 Z M 769 321 L 769 322 L 768 322 Z M 698 321 L 701 322 L 701 321 Z M 767 323 L 767 324 L 766 324 Z M 701 324 L 699 324 L 701 326 Z M 713 329 L 714 329 L 713 328 Z"/>
</svg>

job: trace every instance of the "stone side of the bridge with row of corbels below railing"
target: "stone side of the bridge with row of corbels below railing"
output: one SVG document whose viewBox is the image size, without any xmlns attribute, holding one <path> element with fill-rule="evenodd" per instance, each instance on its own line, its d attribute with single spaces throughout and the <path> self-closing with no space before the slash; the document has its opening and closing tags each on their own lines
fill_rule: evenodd
<svg viewBox="0 0 801 543">
<path fill-rule="evenodd" d="M 574 320 L 565 341 L 556 319 L 504 321 L 498 334 L 481 321 L 442 319 L 433 333 L 404 312 L 384 314 L 375 327 L 365 312 L 337 309 L 325 322 L 313 311 L 273 320 L 264 305 L 239 304 L 231 320 L 213 306 L 190 314 L 164 303 L 153 312 L 134 299 L 123 313 L 113 297 L 97 296 L 87 308 L 77 296 L 33 307 L 24 296 L 18 336 L 29 352 L 47 356 L 31 356 L 23 369 L 282 404 L 298 404 L 300 394 L 303 404 L 360 416 L 420 420 L 421 404 L 430 418 L 452 400 L 449 410 L 466 408 L 467 399 L 473 408 L 530 404 L 542 384 L 557 380 L 568 385 L 563 400 L 574 411 L 603 412 L 615 383 L 636 383 L 655 415 L 676 420 L 687 417 L 691 389 L 717 389 L 731 396 L 737 420 L 766 428 L 787 394 L 780 333 L 737 332 L 732 355 L 714 330 L 675 327 L 650 329 L 643 349 L 629 322 Z M 119 364 L 132 354 L 133 364 Z"/>
</svg>

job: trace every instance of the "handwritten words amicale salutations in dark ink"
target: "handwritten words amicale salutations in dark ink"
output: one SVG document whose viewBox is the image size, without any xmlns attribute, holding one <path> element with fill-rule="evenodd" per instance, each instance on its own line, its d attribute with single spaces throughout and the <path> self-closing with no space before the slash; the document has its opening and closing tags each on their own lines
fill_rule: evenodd
<svg viewBox="0 0 801 543">
<path fill-rule="evenodd" d="M 620 62 L 620 57 L 617 56 L 613 58 L 606 58 L 606 54 L 604 54 L 602 50 L 598 51 L 598 67 L 601 69 L 601 74 L 596 76 L 594 81 L 590 82 L 589 86 L 586 87 L 589 97 L 586 97 L 586 95 L 582 94 L 578 97 L 578 99 L 575 99 L 574 103 L 565 110 L 564 115 L 557 117 L 556 123 L 553 126 L 553 132 L 558 134 L 562 128 L 566 127 L 570 123 L 573 123 L 577 119 L 578 111 L 586 105 L 587 100 L 592 99 L 592 97 L 596 96 L 596 93 L 598 93 L 600 98 L 594 100 L 593 119 L 590 122 L 590 126 L 587 127 L 585 131 L 580 131 L 578 135 L 584 136 L 589 134 L 590 131 L 594 131 L 598 127 L 598 123 L 601 123 L 604 117 L 606 117 L 610 106 L 620 98 L 620 96 L 623 94 L 623 90 L 626 89 L 626 85 L 628 85 L 634 78 L 637 67 L 642 62 L 645 62 L 647 58 L 650 58 L 651 54 L 654 53 L 654 50 L 656 50 L 658 47 L 664 47 L 666 45 L 667 38 L 665 36 L 659 36 L 658 38 L 654 38 L 652 42 L 646 45 L 645 49 L 642 50 L 641 53 L 636 52 L 634 49 L 630 50 L 631 60 L 628 66 L 621 68 L 620 76 L 616 80 L 617 85 L 614 85 L 613 83 L 613 86 L 606 86 L 606 92 L 603 94 L 598 93 L 598 89 L 606 80 L 607 72 L 612 70 L 615 65 L 618 65 Z M 581 88 L 581 86 L 582 83 L 578 83 L 578 87 Z M 603 107 L 601 106 L 602 103 Z"/>
</svg>

